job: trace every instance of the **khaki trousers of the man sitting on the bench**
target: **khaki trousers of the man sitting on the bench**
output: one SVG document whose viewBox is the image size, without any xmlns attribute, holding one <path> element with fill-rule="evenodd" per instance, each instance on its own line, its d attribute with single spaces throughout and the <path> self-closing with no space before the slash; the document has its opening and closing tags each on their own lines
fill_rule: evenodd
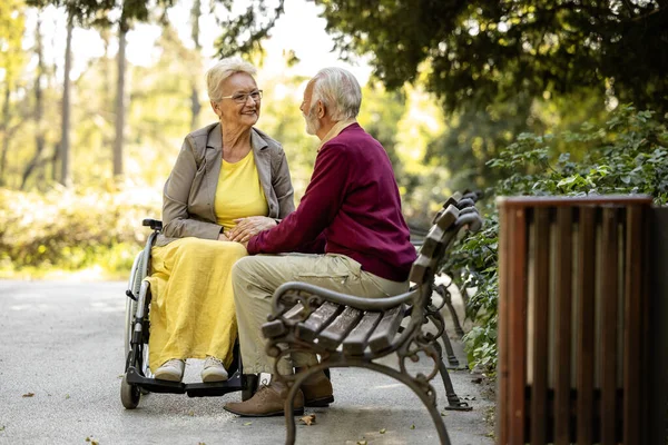
<svg viewBox="0 0 668 445">
<path fill-rule="evenodd" d="M 232 283 L 245 374 L 274 374 L 274 358 L 265 352 L 262 325 L 272 312 L 274 290 L 286 281 L 303 281 L 357 297 L 382 298 L 409 289 L 397 283 L 362 270 L 360 263 L 344 255 L 257 255 L 239 259 L 232 268 Z M 293 366 L 315 364 L 315 357 L 294 354 L 282 359 L 278 372 L 292 374 Z"/>
</svg>

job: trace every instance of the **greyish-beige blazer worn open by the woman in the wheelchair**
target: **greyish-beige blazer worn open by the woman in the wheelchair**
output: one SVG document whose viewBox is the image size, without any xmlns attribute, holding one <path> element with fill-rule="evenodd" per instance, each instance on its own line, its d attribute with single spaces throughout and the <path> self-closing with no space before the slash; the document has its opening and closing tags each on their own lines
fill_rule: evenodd
<svg viewBox="0 0 668 445">
<path fill-rule="evenodd" d="M 252 128 L 250 146 L 257 175 L 269 207 L 269 218 L 283 219 L 294 211 L 294 190 L 281 144 Z M 214 199 L 223 159 L 220 123 L 193 131 L 184 140 L 163 194 L 163 235 L 156 246 L 177 238 L 217 239 Z"/>
</svg>

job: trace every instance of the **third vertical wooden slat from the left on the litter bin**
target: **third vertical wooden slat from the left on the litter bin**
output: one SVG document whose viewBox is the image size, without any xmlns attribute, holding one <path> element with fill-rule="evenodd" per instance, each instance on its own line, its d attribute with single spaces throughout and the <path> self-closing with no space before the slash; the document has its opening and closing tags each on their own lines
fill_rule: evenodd
<svg viewBox="0 0 668 445">
<path fill-rule="evenodd" d="M 571 300 L 572 274 L 571 207 L 557 209 L 556 280 L 554 280 L 554 445 L 570 441 L 571 394 Z"/>
</svg>

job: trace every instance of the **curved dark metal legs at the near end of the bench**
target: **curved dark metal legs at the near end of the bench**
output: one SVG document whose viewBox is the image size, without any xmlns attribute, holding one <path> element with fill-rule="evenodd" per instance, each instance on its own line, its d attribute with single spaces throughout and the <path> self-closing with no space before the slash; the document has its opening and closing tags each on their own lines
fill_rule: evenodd
<svg viewBox="0 0 668 445">
<path fill-rule="evenodd" d="M 422 400 L 422 403 L 429 411 L 429 414 L 432 417 L 434 426 L 436 427 L 436 432 L 439 433 L 439 439 L 440 439 L 441 444 L 442 445 L 451 445 L 450 436 L 448 435 L 448 429 L 445 428 L 445 424 L 443 423 L 443 417 L 441 417 L 441 414 L 439 413 L 439 409 L 436 408 L 434 399 L 430 398 L 429 394 L 422 387 L 420 387 L 420 385 L 418 385 L 418 383 L 413 378 L 411 378 L 410 376 L 407 376 L 403 373 L 400 373 L 395 369 L 392 369 L 390 367 L 379 365 L 375 363 L 358 363 L 358 364 L 354 364 L 354 365 L 348 363 L 348 366 L 346 366 L 346 367 L 351 367 L 351 366 L 363 367 L 366 369 L 372 369 L 372 370 L 385 374 L 386 376 L 393 377 L 394 379 L 403 383 L 404 385 L 406 385 L 407 387 L 413 389 L 413 393 L 415 393 L 418 395 L 418 397 L 420 397 L 420 399 Z M 333 365 L 332 364 L 316 365 L 316 366 L 310 367 L 308 370 L 299 373 L 298 375 L 295 376 L 295 382 L 292 385 L 292 387 L 289 388 L 289 392 L 287 394 L 287 400 L 285 400 L 285 427 L 286 427 L 285 444 L 286 445 L 294 445 L 295 438 L 296 438 L 295 415 L 293 413 L 293 407 L 294 407 L 295 396 L 297 395 L 297 390 L 298 390 L 299 386 L 302 386 L 302 383 L 306 378 L 308 378 L 311 375 L 313 375 L 320 370 L 324 370 L 326 367 L 333 367 Z M 452 386 L 452 384 L 451 384 L 451 386 Z"/>
</svg>

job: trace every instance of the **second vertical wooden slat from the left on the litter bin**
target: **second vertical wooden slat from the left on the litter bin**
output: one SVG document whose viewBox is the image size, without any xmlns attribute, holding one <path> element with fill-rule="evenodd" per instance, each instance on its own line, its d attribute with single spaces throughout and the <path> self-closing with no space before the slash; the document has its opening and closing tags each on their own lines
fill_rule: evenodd
<svg viewBox="0 0 668 445">
<path fill-rule="evenodd" d="M 531 444 L 546 443 L 548 392 L 548 324 L 550 291 L 550 208 L 538 208 L 533 214 L 533 384 L 531 386 Z"/>
</svg>

